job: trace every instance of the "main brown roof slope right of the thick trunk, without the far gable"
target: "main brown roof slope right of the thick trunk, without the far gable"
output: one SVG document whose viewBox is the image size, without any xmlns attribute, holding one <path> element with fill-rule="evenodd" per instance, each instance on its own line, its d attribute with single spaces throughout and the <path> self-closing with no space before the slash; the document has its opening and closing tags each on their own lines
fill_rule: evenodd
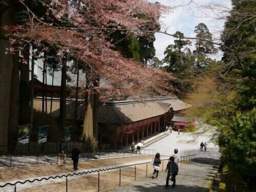
<svg viewBox="0 0 256 192">
<path fill-rule="evenodd" d="M 99 122 L 126 124 L 165 114 L 170 109 L 153 102 L 102 105 L 99 107 Z"/>
</svg>

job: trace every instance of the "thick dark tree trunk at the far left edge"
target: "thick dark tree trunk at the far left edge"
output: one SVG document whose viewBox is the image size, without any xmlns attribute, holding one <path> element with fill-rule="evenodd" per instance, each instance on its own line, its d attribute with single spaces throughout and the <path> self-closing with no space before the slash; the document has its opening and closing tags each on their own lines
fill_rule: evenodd
<svg viewBox="0 0 256 192">
<path fill-rule="evenodd" d="M 0 10 L 3 10 L 0 11 L 0 35 L 6 35 L 9 32 L 2 27 L 14 24 L 13 16 L 15 13 L 15 5 L 12 5 L 10 2 L 9 7 L 7 8 L 4 4 L 0 4 Z M 10 46 L 8 38 L 0 38 L 0 151 L 7 151 L 8 145 L 8 121 L 13 57 L 11 54 L 5 54 L 5 52 Z"/>
</svg>

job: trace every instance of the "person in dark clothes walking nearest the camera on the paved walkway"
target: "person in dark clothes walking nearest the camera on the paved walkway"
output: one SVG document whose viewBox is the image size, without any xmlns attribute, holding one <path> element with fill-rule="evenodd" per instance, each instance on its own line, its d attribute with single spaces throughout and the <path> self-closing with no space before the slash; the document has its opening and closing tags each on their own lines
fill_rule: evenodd
<svg viewBox="0 0 256 192">
<path fill-rule="evenodd" d="M 174 162 L 174 157 L 169 158 L 169 162 L 167 163 L 165 172 L 167 172 L 165 188 L 169 187 L 170 176 L 172 176 L 170 180 L 173 181 L 172 187 L 174 188 L 176 185 L 176 176 L 178 175 L 178 167 L 177 164 Z"/>
</svg>

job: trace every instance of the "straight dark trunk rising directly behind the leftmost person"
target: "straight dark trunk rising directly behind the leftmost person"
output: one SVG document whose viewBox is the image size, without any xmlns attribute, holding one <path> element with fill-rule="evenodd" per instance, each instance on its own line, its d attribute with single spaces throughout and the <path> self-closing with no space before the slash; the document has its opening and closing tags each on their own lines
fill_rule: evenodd
<svg viewBox="0 0 256 192">
<path fill-rule="evenodd" d="M 60 86 L 60 103 L 59 103 L 59 118 L 62 128 L 66 126 L 66 89 L 67 89 L 67 60 L 62 60 L 61 68 L 61 86 Z"/>
</svg>

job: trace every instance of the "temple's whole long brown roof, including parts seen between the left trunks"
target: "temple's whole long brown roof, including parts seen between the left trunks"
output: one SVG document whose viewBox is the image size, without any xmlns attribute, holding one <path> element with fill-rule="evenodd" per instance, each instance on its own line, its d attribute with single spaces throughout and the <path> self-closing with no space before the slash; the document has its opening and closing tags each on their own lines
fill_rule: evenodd
<svg viewBox="0 0 256 192">
<path fill-rule="evenodd" d="M 47 101 L 47 113 L 50 114 L 50 99 Z M 115 101 L 100 102 L 99 122 L 127 124 L 152 117 L 157 117 L 168 112 L 170 108 L 174 111 L 189 108 L 191 105 L 184 103 L 177 97 L 163 98 L 146 101 Z M 41 111 L 42 100 L 34 99 L 34 108 Z M 67 119 L 73 119 L 75 110 L 74 101 L 67 101 Z M 78 106 L 78 120 L 83 120 L 84 104 L 80 102 Z M 59 117 L 59 100 L 55 99 L 52 103 L 52 116 Z"/>
</svg>

